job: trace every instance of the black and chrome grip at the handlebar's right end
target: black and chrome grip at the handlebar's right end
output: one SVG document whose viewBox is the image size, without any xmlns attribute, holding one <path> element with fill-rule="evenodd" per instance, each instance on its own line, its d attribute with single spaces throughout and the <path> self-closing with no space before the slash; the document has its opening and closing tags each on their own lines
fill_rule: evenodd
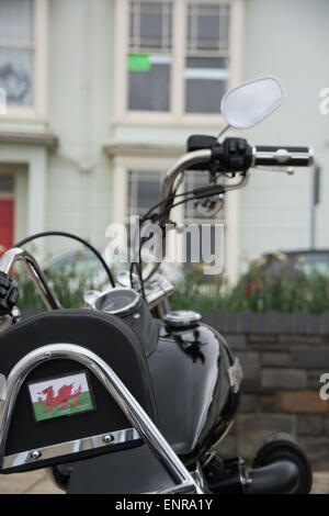
<svg viewBox="0 0 329 516">
<path fill-rule="evenodd" d="M 252 149 L 252 165 L 310 167 L 314 164 L 311 147 L 257 146 Z"/>
</svg>

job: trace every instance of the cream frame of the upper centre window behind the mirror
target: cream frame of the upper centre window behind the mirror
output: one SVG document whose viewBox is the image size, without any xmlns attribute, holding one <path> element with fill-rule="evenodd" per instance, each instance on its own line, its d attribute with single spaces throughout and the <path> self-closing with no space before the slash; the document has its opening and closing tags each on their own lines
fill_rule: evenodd
<svg viewBox="0 0 329 516">
<path fill-rule="evenodd" d="M 161 0 L 155 0 L 161 1 Z M 129 0 L 115 0 L 115 56 L 114 56 L 114 123 L 127 125 L 183 125 L 217 126 L 224 125 L 220 114 L 185 112 L 185 41 L 186 41 L 186 4 L 191 0 L 173 0 L 172 26 L 172 68 L 170 79 L 171 111 L 129 111 L 127 105 L 128 80 L 126 59 L 129 37 Z M 196 1 L 196 0 L 192 0 Z M 241 70 L 241 41 L 243 0 L 207 0 L 207 3 L 230 3 L 229 21 L 229 78 L 228 89 L 237 86 Z"/>
</svg>

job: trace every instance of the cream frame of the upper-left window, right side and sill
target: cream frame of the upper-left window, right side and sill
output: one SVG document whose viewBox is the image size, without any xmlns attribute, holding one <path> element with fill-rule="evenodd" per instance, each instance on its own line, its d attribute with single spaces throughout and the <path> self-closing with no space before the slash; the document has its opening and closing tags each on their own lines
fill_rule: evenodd
<svg viewBox="0 0 329 516">
<path fill-rule="evenodd" d="M 33 59 L 33 105 L 8 105 L 7 113 L 0 114 L 0 122 L 14 120 L 41 120 L 47 114 L 47 52 L 48 52 L 48 4 L 49 0 L 34 0 L 34 59 Z"/>
</svg>

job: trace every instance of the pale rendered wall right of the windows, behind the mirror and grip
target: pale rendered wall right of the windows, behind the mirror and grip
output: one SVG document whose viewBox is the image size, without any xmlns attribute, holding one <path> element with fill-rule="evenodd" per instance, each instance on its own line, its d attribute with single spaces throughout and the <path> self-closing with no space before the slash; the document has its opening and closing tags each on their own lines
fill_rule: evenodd
<svg viewBox="0 0 329 516">
<path fill-rule="evenodd" d="M 246 0 L 243 78 L 279 77 L 287 98 L 258 127 L 245 132 L 254 144 L 311 145 L 322 167 L 317 247 L 329 247 L 329 115 L 319 92 L 329 86 L 329 2 Z M 257 172 L 241 193 L 240 248 L 249 257 L 309 246 L 311 175 Z"/>
</svg>

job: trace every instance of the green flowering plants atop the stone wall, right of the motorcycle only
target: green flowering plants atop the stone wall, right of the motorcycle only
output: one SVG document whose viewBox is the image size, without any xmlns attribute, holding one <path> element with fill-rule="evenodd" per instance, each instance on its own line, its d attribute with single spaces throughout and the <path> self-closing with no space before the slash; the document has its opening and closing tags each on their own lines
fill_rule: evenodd
<svg viewBox="0 0 329 516">
<path fill-rule="evenodd" d="M 251 262 L 248 272 L 234 288 L 228 285 L 225 277 L 215 284 L 201 284 L 198 271 L 189 273 L 178 285 L 170 305 L 173 310 L 193 307 L 201 313 L 213 310 L 265 313 L 274 310 L 319 314 L 329 311 L 329 271 L 320 273 L 314 269 L 305 273 L 286 262 L 273 273 L 263 265 L 259 260 Z"/>
</svg>

